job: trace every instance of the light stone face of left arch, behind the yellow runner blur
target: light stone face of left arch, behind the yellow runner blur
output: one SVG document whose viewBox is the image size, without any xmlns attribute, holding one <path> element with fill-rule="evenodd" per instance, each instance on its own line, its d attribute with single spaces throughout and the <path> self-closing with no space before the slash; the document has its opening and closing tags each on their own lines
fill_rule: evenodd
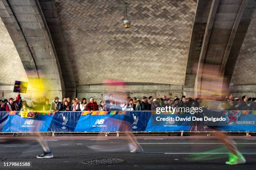
<svg viewBox="0 0 256 170">
<path fill-rule="evenodd" d="M 59 62 L 37 1 L 1 0 L 0 9 L 30 82 L 31 96 L 62 97 L 65 87 Z"/>
</svg>

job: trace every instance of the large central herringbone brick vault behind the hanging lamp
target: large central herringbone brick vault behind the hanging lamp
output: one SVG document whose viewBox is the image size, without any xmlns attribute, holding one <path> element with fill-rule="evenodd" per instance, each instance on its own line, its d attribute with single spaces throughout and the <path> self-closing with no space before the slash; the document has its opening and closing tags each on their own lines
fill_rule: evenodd
<svg viewBox="0 0 256 170">
<path fill-rule="evenodd" d="M 183 85 L 196 0 L 55 0 L 77 85 Z"/>
</svg>

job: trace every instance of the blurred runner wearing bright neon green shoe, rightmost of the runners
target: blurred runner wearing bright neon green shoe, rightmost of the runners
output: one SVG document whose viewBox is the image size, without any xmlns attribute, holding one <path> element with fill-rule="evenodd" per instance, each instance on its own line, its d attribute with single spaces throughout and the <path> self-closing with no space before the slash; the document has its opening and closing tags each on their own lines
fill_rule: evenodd
<svg viewBox="0 0 256 170">
<path fill-rule="evenodd" d="M 220 65 L 204 64 L 202 68 L 197 68 L 197 95 L 204 100 L 208 100 L 209 103 L 213 100 L 221 100 L 223 95 L 228 94 L 228 83 L 224 77 L 221 77 L 220 70 Z M 218 105 L 210 105 L 207 109 L 217 110 Z M 218 126 L 209 126 L 209 128 L 213 131 L 218 130 Z M 238 151 L 234 140 L 228 138 L 225 133 L 220 131 L 212 133 L 212 135 L 215 135 L 216 138 L 222 141 L 231 152 L 226 164 L 237 165 L 246 163 L 246 159 Z"/>
</svg>

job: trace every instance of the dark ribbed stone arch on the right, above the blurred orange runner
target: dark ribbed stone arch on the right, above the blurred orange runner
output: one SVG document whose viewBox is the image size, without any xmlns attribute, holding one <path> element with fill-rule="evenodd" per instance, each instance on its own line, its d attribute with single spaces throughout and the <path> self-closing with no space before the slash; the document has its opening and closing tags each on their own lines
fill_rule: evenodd
<svg viewBox="0 0 256 170">
<path fill-rule="evenodd" d="M 200 7 L 206 7 L 202 9 L 204 13 L 201 13 Z M 210 92 L 214 88 L 218 90 L 213 95 L 228 92 L 255 8 L 255 0 L 198 0 L 189 47 L 185 93 L 197 96 L 202 90 Z M 198 25 L 205 29 L 203 36 Z M 214 67 L 216 74 L 207 71 L 208 67 Z M 208 75 L 203 75 L 206 72 Z M 207 82 L 207 85 L 202 87 L 202 82 Z"/>
</svg>

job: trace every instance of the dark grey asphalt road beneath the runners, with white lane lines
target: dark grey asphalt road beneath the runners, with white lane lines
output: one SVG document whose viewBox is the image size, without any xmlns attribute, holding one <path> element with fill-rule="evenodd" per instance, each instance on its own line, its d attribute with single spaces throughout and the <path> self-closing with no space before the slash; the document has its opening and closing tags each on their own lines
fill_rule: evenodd
<svg viewBox="0 0 256 170">
<path fill-rule="evenodd" d="M 244 153 L 246 164 L 225 165 L 228 150 L 220 141 L 209 139 L 183 139 L 143 136 L 138 139 L 144 151 L 130 153 L 127 140 L 123 138 L 93 138 L 87 140 L 48 140 L 54 158 L 37 159 L 42 152 L 34 140 L 3 140 L 0 138 L 0 169 L 27 170 L 255 170 L 256 139 L 236 139 Z M 100 151 L 87 146 L 97 145 Z M 84 160 L 116 158 L 124 163 L 113 165 L 88 165 Z M 27 168 L 4 167 L 7 162 L 30 162 Z"/>
</svg>

